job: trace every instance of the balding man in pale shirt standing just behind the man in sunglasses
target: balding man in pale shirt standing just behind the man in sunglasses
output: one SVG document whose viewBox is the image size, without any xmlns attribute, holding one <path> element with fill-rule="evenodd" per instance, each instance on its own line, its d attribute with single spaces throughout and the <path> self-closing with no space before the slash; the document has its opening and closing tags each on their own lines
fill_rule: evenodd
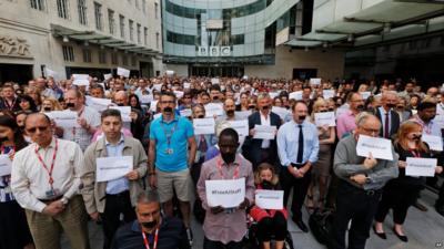
<svg viewBox="0 0 444 249">
<path fill-rule="evenodd" d="M 72 128 L 63 128 L 63 139 L 73 141 L 82 151 L 91 144 L 91 139 L 100 125 L 100 114 L 95 110 L 85 106 L 83 96 L 78 90 L 69 90 L 64 94 L 67 107 L 77 112 L 78 125 Z"/>
</svg>

